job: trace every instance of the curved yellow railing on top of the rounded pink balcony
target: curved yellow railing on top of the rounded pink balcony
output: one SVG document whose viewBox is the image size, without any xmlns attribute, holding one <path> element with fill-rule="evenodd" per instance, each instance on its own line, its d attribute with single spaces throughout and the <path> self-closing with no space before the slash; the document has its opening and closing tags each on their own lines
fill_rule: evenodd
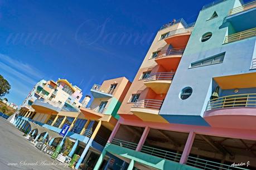
<svg viewBox="0 0 256 170">
<path fill-rule="evenodd" d="M 209 100 L 206 111 L 234 107 L 256 107 L 256 94 L 230 95 Z"/>
</svg>

